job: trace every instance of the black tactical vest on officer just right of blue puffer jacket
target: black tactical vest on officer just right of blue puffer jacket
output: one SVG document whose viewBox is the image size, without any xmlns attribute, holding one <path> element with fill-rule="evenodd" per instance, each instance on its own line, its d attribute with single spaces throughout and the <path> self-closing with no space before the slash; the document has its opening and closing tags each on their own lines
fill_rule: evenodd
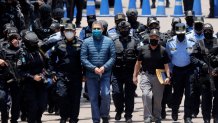
<svg viewBox="0 0 218 123">
<path fill-rule="evenodd" d="M 115 68 L 134 68 L 137 57 L 135 39 L 130 36 L 127 39 L 119 37 L 114 43 L 116 48 Z"/>
</svg>

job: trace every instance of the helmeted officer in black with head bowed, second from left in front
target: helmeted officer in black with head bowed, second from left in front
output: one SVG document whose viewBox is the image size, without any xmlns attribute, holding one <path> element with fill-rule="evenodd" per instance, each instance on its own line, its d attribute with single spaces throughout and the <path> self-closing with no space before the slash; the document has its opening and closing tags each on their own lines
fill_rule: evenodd
<svg viewBox="0 0 218 123">
<path fill-rule="evenodd" d="M 24 78 L 24 95 L 27 104 L 28 123 L 42 123 L 41 117 L 47 106 L 47 58 L 39 51 L 39 39 L 34 32 L 27 31 L 23 40 L 25 49 L 21 53 L 21 77 Z M 51 80 L 51 79 L 50 79 Z"/>
</svg>

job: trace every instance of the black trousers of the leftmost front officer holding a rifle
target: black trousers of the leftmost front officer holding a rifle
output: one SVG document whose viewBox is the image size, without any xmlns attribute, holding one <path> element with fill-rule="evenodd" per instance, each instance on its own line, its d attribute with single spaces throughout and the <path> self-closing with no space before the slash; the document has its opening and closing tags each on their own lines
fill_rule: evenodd
<svg viewBox="0 0 218 123">
<path fill-rule="evenodd" d="M 21 88 L 16 82 L 10 83 L 9 88 L 12 98 L 11 123 L 17 123 L 17 120 L 20 117 Z"/>
</svg>

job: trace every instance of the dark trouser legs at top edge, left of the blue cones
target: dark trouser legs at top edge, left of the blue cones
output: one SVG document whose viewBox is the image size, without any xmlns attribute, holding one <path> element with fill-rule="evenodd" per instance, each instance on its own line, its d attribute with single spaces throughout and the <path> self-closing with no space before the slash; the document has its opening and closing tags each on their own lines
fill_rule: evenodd
<svg viewBox="0 0 218 123">
<path fill-rule="evenodd" d="M 76 24 L 80 24 L 82 20 L 82 10 L 83 10 L 84 0 L 66 0 L 67 5 L 67 17 L 73 21 L 74 18 L 74 8 L 77 8 L 76 14 Z"/>
</svg>

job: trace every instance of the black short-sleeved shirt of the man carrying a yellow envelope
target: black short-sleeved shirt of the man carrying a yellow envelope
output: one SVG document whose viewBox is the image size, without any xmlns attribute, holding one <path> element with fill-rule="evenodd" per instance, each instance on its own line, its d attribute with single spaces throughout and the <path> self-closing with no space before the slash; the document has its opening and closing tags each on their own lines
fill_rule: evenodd
<svg viewBox="0 0 218 123">
<path fill-rule="evenodd" d="M 163 46 L 158 45 L 152 49 L 149 44 L 143 46 L 139 51 L 138 61 L 142 61 L 143 71 L 155 74 L 156 69 L 163 69 L 164 64 L 170 62 L 168 54 Z"/>
</svg>

